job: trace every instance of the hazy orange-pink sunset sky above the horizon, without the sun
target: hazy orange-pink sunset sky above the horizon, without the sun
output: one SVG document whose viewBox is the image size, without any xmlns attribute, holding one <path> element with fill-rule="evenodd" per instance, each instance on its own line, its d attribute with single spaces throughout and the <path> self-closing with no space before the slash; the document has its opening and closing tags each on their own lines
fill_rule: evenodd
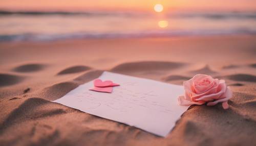
<svg viewBox="0 0 256 146">
<path fill-rule="evenodd" d="M 0 9 L 151 11 L 156 4 L 165 10 L 256 10 L 256 0 L 0 0 Z"/>
</svg>

